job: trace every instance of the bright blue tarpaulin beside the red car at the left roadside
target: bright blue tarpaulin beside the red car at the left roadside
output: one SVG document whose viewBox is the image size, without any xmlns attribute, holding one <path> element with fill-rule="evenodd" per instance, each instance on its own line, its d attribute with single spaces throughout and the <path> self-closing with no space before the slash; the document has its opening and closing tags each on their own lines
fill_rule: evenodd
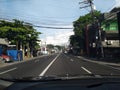
<svg viewBox="0 0 120 90">
<path fill-rule="evenodd" d="M 22 51 L 18 50 L 7 50 L 8 56 L 11 56 L 14 61 L 22 60 Z"/>
</svg>

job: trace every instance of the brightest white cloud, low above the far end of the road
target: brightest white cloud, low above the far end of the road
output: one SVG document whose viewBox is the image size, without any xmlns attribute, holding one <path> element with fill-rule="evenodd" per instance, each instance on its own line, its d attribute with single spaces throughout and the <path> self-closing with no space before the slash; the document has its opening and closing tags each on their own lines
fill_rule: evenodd
<svg viewBox="0 0 120 90">
<path fill-rule="evenodd" d="M 46 36 L 46 38 L 42 39 L 42 41 L 46 42 L 47 44 L 62 45 L 67 43 L 69 36 L 73 34 L 74 33 L 72 30 L 60 30 L 54 35 Z"/>
</svg>

